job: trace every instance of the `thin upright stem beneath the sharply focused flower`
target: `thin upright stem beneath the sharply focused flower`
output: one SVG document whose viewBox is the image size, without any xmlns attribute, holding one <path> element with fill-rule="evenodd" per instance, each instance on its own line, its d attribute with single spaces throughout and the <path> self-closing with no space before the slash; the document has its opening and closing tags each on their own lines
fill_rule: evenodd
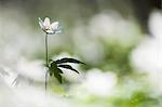
<svg viewBox="0 0 162 107">
<path fill-rule="evenodd" d="M 49 68 L 49 58 L 48 58 L 48 34 L 45 35 L 45 59 L 46 59 L 46 67 Z M 48 89 L 48 70 L 45 72 L 45 91 Z"/>
</svg>

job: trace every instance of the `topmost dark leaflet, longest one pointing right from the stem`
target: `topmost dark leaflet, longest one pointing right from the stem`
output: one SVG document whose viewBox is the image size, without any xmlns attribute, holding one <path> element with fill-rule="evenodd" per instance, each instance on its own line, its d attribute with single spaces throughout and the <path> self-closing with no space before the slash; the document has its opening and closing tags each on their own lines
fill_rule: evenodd
<svg viewBox="0 0 162 107">
<path fill-rule="evenodd" d="M 75 59 L 75 58 L 68 58 L 68 57 L 65 57 L 65 58 L 62 58 L 62 59 L 57 59 L 55 61 L 56 64 L 63 64 L 63 63 L 76 63 L 76 64 L 84 64 L 78 59 Z"/>
</svg>

